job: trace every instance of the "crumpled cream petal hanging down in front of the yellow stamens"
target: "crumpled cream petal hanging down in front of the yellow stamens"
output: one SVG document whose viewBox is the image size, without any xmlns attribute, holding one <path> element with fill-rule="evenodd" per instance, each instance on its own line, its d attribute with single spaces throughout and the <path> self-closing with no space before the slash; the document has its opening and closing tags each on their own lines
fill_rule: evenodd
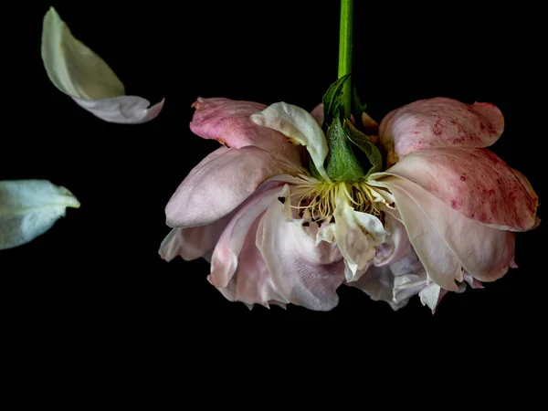
<svg viewBox="0 0 548 411">
<path fill-rule="evenodd" d="M 375 247 L 385 242 L 388 233 L 377 217 L 354 211 L 342 189 L 333 216 L 335 237 L 347 267 L 346 280 L 355 281 L 373 263 Z"/>
</svg>

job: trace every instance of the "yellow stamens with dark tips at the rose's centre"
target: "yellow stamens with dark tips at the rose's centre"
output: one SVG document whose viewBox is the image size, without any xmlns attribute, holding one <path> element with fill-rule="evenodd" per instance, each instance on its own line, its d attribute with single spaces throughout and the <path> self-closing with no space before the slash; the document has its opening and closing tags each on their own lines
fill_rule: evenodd
<svg viewBox="0 0 548 411">
<path fill-rule="evenodd" d="M 326 183 L 310 178 L 306 178 L 306 181 L 291 189 L 290 195 L 291 207 L 299 212 L 300 218 L 311 218 L 312 222 L 319 224 L 328 220 L 335 211 L 337 196 L 342 191 L 355 211 L 376 216 L 384 224 L 385 213 L 374 201 L 374 188 L 365 181 Z"/>
</svg>

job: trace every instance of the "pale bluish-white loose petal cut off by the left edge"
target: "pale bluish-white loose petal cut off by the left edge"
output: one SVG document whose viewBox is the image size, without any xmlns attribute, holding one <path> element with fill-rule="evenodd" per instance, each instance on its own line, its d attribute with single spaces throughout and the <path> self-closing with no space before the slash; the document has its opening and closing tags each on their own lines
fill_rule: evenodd
<svg viewBox="0 0 548 411">
<path fill-rule="evenodd" d="M 0 181 L 0 249 L 26 244 L 44 234 L 67 207 L 79 201 L 47 180 Z"/>
</svg>

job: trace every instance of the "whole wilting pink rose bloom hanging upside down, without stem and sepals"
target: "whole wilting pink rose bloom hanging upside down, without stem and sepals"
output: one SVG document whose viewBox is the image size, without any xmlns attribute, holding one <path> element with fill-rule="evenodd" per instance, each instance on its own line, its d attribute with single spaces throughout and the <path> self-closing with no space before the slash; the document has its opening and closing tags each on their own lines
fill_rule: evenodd
<svg viewBox="0 0 548 411">
<path fill-rule="evenodd" d="M 209 260 L 208 279 L 228 300 L 325 311 L 346 284 L 395 309 L 418 293 L 434 310 L 447 290 L 514 267 L 512 231 L 536 224 L 525 177 L 476 148 L 501 134 L 493 106 L 433 99 L 393 111 L 380 140 L 395 165 L 357 183 L 326 174 L 321 115 L 227 99 L 194 107 L 191 130 L 225 146 L 175 191 L 160 254 Z"/>
</svg>

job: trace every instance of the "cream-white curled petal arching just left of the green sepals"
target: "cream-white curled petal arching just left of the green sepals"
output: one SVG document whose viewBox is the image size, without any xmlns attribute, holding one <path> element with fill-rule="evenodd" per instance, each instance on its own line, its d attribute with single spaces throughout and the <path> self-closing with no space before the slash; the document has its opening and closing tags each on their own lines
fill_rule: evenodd
<svg viewBox="0 0 548 411">
<path fill-rule="evenodd" d="M 277 102 L 251 115 L 251 121 L 283 133 L 290 142 L 306 146 L 318 173 L 325 181 L 331 182 L 323 167 L 328 153 L 327 141 L 318 121 L 310 112 L 292 104 Z"/>
</svg>

